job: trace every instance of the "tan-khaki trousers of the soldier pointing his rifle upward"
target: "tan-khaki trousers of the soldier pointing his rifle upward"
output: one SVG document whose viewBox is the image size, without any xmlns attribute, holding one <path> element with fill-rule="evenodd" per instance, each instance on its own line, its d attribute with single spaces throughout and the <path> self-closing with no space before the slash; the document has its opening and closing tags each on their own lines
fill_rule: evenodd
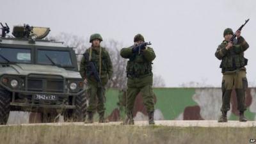
<svg viewBox="0 0 256 144">
<path fill-rule="evenodd" d="M 237 109 L 239 111 L 245 111 L 245 91 L 248 88 L 248 82 L 246 79 L 246 71 L 239 70 L 238 72 L 223 74 L 223 80 L 221 84 L 222 89 L 222 106 L 221 111 L 227 112 L 230 110 L 230 98 L 232 89 L 236 90 Z"/>
</svg>

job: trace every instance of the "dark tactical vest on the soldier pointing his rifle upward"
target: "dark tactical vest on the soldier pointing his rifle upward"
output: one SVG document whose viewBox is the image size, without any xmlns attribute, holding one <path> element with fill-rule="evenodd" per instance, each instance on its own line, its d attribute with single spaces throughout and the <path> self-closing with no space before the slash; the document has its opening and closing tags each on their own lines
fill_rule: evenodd
<svg viewBox="0 0 256 144">
<path fill-rule="evenodd" d="M 227 42 L 223 42 L 223 45 L 227 46 Z M 247 65 L 248 60 L 244 58 L 244 53 L 237 51 L 239 47 L 239 45 L 234 45 L 222 58 L 220 68 L 223 72 L 234 71 Z"/>
</svg>

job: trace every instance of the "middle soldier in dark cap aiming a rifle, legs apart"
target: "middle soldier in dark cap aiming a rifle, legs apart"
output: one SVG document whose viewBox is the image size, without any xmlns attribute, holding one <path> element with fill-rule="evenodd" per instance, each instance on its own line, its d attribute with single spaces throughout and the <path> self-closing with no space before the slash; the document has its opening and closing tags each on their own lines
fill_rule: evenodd
<svg viewBox="0 0 256 144">
<path fill-rule="evenodd" d="M 141 51 L 136 51 L 135 47 L 144 42 L 142 35 L 134 36 L 134 45 L 123 48 L 120 52 L 123 58 L 129 59 L 127 62 L 127 119 L 124 124 L 134 124 L 133 107 L 138 93 L 143 96 L 143 103 L 148 111 L 148 123 L 154 123 L 154 93 L 152 90 L 153 73 L 152 61 L 156 58 L 151 47 L 141 47 Z"/>
</svg>

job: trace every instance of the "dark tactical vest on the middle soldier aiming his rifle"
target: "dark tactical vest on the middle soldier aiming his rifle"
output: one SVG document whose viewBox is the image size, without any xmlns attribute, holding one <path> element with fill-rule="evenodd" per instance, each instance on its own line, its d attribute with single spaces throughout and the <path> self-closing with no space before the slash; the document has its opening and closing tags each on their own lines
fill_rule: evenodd
<svg viewBox="0 0 256 144">
<path fill-rule="evenodd" d="M 152 75 L 152 62 L 145 60 L 143 54 L 132 54 L 127 62 L 127 77 L 143 77 Z"/>
</svg>

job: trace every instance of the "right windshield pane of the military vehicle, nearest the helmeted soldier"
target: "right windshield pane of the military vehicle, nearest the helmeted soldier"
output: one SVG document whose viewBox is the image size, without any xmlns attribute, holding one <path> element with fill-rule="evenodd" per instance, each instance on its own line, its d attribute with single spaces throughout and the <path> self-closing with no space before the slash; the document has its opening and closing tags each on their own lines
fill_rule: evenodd
<svg viewBox="0 0 256 144">
<path fill-rule="evenodd" d="M 59 65 L 61 67 L 72 67 L 69 51 L 37 51 L 37 63 L 45 65 Z"/>
</svg>

